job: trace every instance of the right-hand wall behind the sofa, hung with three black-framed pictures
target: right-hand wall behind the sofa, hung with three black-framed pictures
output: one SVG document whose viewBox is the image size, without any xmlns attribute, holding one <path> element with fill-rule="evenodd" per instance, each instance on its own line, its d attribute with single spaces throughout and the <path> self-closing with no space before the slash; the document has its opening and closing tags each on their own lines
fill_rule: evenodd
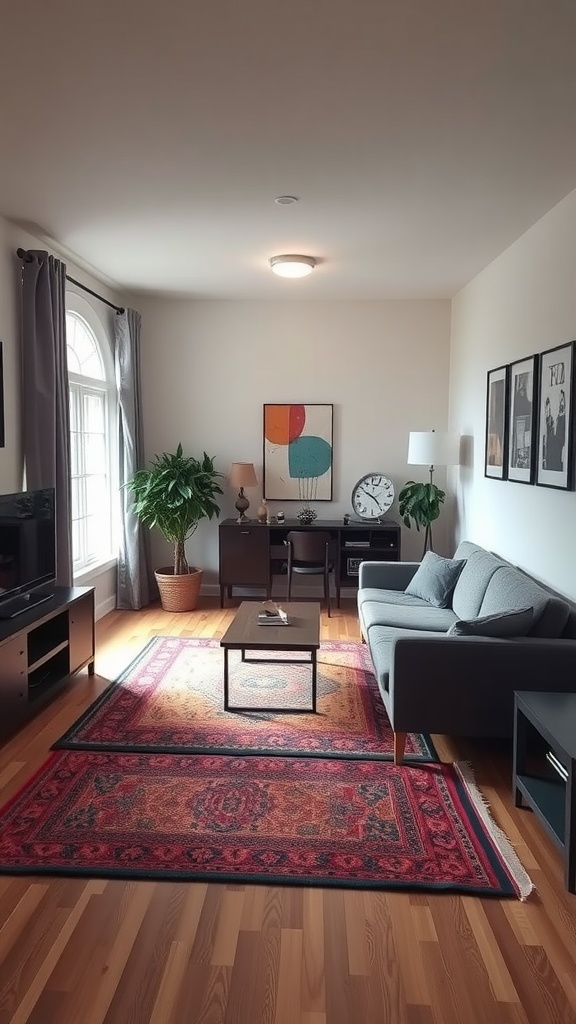
<svg viewBox="0 0 576 1024">
<path fill-rule="evenodd" d="M 486 374 L 576 338 L 576 191 L 453 301 L 451 425 L 467 434 L 457 536 L 576 599 L 576 493 L 484 476 Z M 576 395 L 574 396 L 576 398 Z"/>
</svg>

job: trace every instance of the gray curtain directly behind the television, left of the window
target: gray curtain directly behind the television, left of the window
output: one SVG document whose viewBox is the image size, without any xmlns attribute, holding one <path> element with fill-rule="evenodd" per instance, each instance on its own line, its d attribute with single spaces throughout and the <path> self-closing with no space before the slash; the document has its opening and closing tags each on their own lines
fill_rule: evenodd
<svg viewBox="0 0 576 1024">
<path fill-rule="evenodd" d="M 42 250 L 29 250 L 23 256 L 22 286 L 22 429 L 26 486 L 31 490 L 55 488 L 56 583 L 71 587 L 66 264 Z"/>
</svg>

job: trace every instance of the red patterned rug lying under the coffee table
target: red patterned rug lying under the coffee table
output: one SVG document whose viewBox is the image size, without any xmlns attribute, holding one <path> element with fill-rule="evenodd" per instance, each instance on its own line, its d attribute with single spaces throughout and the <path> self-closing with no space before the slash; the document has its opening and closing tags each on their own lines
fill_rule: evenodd
<svg viewBox="0 0 576 1024">
<path fill-rule="evenodd" d="M 308 663 L 247 664 L 239 651 L 231 651 L 230 666 L 231 703 L 310 707 Z M 218 641 L 155 637 L 54 746 L 379 760 L 394 756 L 390 724 L 366 646 L 335 641 L 324 642 L 319 651 L 318 713 L 290 715 L 225 712 Z M 420 734 L 409 734 L 406 754 L 409 760 L 438 760 L 429 737 Z"/>
</svg>

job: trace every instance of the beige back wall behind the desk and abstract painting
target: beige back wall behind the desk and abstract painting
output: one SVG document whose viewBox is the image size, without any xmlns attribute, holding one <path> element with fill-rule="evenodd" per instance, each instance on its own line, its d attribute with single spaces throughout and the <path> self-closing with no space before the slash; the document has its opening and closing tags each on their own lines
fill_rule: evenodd
<svg viewBox="0 0 576 1024">
<path fill-rule="evenodd" d="M 319 517 L 351 512 L 351 493 L 379 470 L 398 490 L 426 479 L 406 464 L 411 429 L 447 425 L 450 305 L 447 301 L 210 302 L 141 300 L 142 390 L 149 456 L 181 440 L 205 449 L 228 473 L 253 462 L 262 473 L 262 404 L 332 402 L 334 499 L 317 503 Z M 439 470 L 438 481 L 443 480 Z M 224 484 L 222 515 L 236 514 L 236 492 Z M 248 493 L 255 514 L 261 489 Z M 274 512 L 281 503 L 271 502 Z M 286 513 L 297 503 L 284 503 Z M 398 518 L 398 506 L 388 513 Z M 436 546 L 450 552 L 450 510 Z M 419 557 L 421 535 L 404 530 L 403 555 Z M 166 548 L 155 542 L 156 559 Z M 203 523 L 190 555 L 217 575 L 217 531 Z"/>
</svg>

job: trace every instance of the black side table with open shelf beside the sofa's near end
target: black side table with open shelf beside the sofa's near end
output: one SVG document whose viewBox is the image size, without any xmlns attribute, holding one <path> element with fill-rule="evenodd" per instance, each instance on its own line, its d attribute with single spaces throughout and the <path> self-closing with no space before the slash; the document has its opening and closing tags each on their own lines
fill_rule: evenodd
<svg viewBox="0 0 576 1024">
<path fill-rule="evenodd" d="M 512 795 L 563 851 L 576 893 L 576 693 L 515 693 Z"/>
</svg>

